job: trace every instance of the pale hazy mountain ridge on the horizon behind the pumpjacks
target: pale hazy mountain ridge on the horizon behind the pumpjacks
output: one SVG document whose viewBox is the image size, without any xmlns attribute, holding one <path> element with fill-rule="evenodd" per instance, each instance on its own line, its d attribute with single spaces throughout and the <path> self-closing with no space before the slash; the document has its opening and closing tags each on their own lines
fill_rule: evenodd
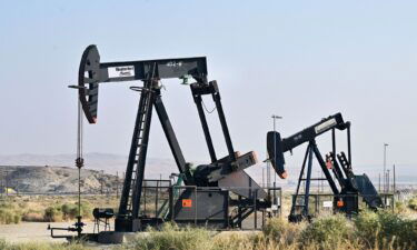
<svg viewBox="0 0 417 250">
<path fill-rule="evenodd" d="M 126 170 L 128 157 L 122 154 L 113 153 L 100 153 L 90 152 L 85 156 L 86 169 L 91 170 L 103 170 L 106 173 L 116 174 L 119 177 Z M 0 167 L 1 166 L 58 166 L 75 168 L 76 154 L 0 154 Z M 196 166 L 202 162 L 193 162 Z M 300 163 L 299 163 L 300 164 Z M 262 169 L 266 170 L 266 164 L 260 162 L 247 169 L 247 172 L 258 182 L 262 182 Z M 397 168 L 397 183 L 398 184 L 417 184 L 417 164 L 396 164 Z M 288 180 L 277 179 L 278 186 L 294 186 L 297 181 L 300 166 L 289 164 L 287 166 L 289 178 Z M 318 166 L 314 166 L 314 176 L 318 174 Z M 387 169 L 393 169 L 393 166 L 387 166 Z M 354 172 L 356 174 L 366 173 L 374 182 L 378 186 L 378 174 L 383 171 L 380 164 L 357 164 L 354 166 Z M 146 166 L 146 178 L 147 179 L 167 179 L 172 172 L 178 172 L 177 166 L 173 159 L 161 159 L 161 158 L 148 158 Z M 266 174 L 266 171 L 264 171 Z M 274 172 L 274 170 L 271 170 Z M 272 180 L 274 182 L 274 176 Z M 315 183 L 316 184 L 316 183 Z"/>
</svg>

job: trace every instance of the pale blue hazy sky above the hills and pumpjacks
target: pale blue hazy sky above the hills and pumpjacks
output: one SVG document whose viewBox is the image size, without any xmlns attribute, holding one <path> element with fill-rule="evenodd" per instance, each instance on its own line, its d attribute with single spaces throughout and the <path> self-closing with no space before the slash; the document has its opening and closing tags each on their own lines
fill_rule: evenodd
<svg viewBox="0 0 417 250">
<path fill-rule="evenodd" d="M 79 61 L 207 56 L 235 149 L 265 159 L 272 113 L 290 136 L 342 112 L 353 122 L 356 164 L 417 163 L 417 1 L 1 1 L 0 154 L 76 150 Z M 208 159 L 190 90 L 163 81 L 163 100 L 186 159 Z M 127 154 L 137 92 L 100 88 L 87 152 Z M 208 109 L 214 107 L 206 99 Z M 217 113 L 209 116 L 226 153 Z M 325 138 L 328 138 L 325 136 Z M 153 120 L 149 154 L 170 158 Z M 320 140 L 320 149 L 330 149 Z M 298 162 L 305 148 L 289 162 Z M 222 152 L 222 153 L 221 153 Z"/>
</svg>

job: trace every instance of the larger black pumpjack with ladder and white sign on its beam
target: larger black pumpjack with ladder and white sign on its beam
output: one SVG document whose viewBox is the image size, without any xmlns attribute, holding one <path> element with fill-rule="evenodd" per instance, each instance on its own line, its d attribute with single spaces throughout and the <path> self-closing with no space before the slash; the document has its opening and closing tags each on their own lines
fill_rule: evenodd
<svg viewBox="0 0 417 250">
<path fill-rule="evenodd" d="M 246 172 L 245 169 L 257 163 L 254 151 L 240 154 L 235 151 L 219 87 L 208 81 L 205 57 L 175 58 L 142 61 L 100 62 L 96 46 L 89 46 L 82 53 L 78 89 L 79 102 L 89 123 L 97 123 L 99 86 L 105 82 L 141 81 L 141 87 L 131 87 L 140 92 L 135 129 L 126 168 L 126 178 L 116 214 L 116 232 L 136 232 L 148 226 L 160 224 L 169 218 L 177 223 L 197 222 L 217 229 L 241 227 L 245 218 L 259 209 L 270 207 L 270 197 Z M 191 94 L 197 106 L 210 163 L 190 168 L 186 161 L 172 124 L 165 108 L 161 94 L 162 79 L 176 78 L 190 83 Z M 227 156 L 218 158 L 203 110 L 203 96 L 211 96 L 220 121 Z M 166 217 L 142 214 L 143 178 L 149 144 L 149 131 L 153 108 L 172 152 L 185 187 L 179 198 L 170 206 Z M 178 190 L 177 190 L 178 191 Z M 198 200 L 198 207 L 197 207 Z M 142 201 L 142 202 L 141 202 Z M 195 207 L 195 208 L 192 208 Z M 231 214 L 231 208 L 238 211 Z M 192 209 L 191 209 L 192 208 Z"/>
</svg>

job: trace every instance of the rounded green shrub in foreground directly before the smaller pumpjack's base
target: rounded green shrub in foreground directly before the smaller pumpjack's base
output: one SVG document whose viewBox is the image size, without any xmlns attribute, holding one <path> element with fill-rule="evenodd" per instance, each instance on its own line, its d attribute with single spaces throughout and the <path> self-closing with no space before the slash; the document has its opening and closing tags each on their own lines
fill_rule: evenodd
<svg viewBox="0 0 417 250">
<path fill-rule="evenodd" d="M 300 233 L 304 247 L 316 244 L 319 249 L 338 249 L 353 240 L 353 226 L 342 214 L 325 217 L 312 221 Z"/>
</svg>

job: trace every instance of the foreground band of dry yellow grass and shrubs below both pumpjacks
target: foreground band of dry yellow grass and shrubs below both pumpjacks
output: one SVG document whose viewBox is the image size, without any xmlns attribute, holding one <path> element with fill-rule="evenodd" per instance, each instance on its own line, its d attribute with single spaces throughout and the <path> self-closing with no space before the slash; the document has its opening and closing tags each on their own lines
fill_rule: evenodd
<svg viewBox="0 0 417 250">
<path fill-rule="evenodd" d="M 201 228 L 165 224 L 149 230 L 119 249 L 140 250 L 363 250 L 416 249 L 417 220 L 391 212 L 364 212 L 348 220 L 342 214 L 318 218 L 312 223 L 289 223 L 274 218 L 261 232 L 212 232 Z"/>
</svg>

